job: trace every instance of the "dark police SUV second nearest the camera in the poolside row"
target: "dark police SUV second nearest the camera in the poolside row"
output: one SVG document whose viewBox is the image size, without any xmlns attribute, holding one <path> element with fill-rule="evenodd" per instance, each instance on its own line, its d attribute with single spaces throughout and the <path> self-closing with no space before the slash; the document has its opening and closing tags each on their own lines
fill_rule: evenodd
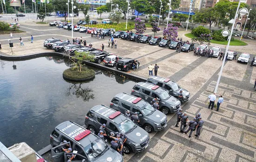
<svg viewBox="0 0 256 162">
<path fill-rule="evenodd" d="M 137 126 L 130 118 L 104 105 L 97 105 L 85 116 L 85 127 L 91 132 L 98 133 L 101 125 L 105 124 L 106 138 L 112 140 L 109 136 L 115 136 L 123 131 L 127 136 L 124 143 L 124 153 L 141 152 L 148 147 L 148 132 Z M 106 162 L 106 161 L 99 161 Z M 116 161 L 113 161 L 116 162 Z"/>
</svg>

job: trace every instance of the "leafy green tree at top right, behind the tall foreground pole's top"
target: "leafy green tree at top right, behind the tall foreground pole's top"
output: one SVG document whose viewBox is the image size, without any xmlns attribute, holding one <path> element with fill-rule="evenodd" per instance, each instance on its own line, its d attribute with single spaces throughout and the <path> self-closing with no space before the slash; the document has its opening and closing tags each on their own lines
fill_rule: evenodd
<svg viewBox="0 0 256 162">
<path fill-rule="evenodd" d="M 216 13 L 220 14 L 221 18 L 226 17 L 226 13 L 229 14 L 229 18 L 232 19 L 235 17 L 236 8 L 238 6 L 238 2 L 230 2 L 229 0 L 220 0 L 214 6 Z M 246 3 L 241 3 L 240 8 L 246 7 Z M 218 16 L 219 18 L 219 16 Z"/>
</svg>

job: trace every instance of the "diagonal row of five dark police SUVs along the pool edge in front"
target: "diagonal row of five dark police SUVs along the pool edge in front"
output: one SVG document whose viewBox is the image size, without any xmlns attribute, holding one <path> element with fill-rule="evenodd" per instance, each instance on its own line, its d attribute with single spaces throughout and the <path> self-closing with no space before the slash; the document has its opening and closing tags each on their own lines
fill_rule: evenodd
<svg viewBox="0 0 256 162">
<path fill-rule="evenodd" d="M 174 81 L 151 76 L 146 82 L 137 83 L 131 94 L 116 94 L 109 106 L 92 107 L 85 116 L 84 127 L 72 121 L 57 125 L 50 134 L 54 162 L 67 162 L 70 156 L 74 156 L 72 161 L 75 162 L 123 162 L 123 157 L 116 150 L 96 136 L 103 124 L 107 135 L 104 139 L 108 141 L 113 140 L 110 136 L 126 135 L 125 154 L 145 150 L 150 142 L 148 133 L 162 131 L 167 126 L 166 115 L 180 109 L 181 101 L 172 96 L 177 90 L 185 92 L 182 102 L 189 100 L 189 92 Z M 158 110 L 151 106 L 153 99 L 159 100 Z M 137 113 L 139 122 L 133 122 L 124 115 L 127 111 L 130 115 Z M 73 152 L 62 151 L 67 148 Z"/>
</svg>

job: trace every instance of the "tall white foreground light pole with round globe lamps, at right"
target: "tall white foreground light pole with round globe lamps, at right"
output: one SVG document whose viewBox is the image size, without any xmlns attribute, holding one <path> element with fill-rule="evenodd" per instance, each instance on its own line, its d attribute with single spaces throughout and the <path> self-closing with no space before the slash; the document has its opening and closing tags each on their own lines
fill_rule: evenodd
<svg viewBox="0 0 256 162">
<path fill-rule="evenodd" d="M 225 50 L 224 59 L 222 61 L 222 67 L 221 67 L 221 70 L 220 70 L 220 73 L 219 73 L 219 77 L 218 77 L 218 80 L 217 80 L 217 83 L 216 83 L 214 93 L 217 93 L 218 86 L 220 84 L 222 70 L 223 70 L 223 67 L 224 67 L 224 64 L 225 64 L 225 60 L 226 60 L 225 58 L 226 58 L 228 50 L 229 50 L 229 44 L 230 44 L 230 40 L 231 40 L 231 37 L 232 37 L 233 29 L 234 29 L 234 26 L 235 26 L 235 23 L 236 23 L 236 18 L 238 17 L 238 13 L 240 13 L 241 16 L 244 16 L 248 12 L 248 10 L 246 8 L 241 8 L 239 10 L 239 6 L 240 6 L 241 2 L 244 3 L 244 2 L 246 2 L 246 0 L 239 0 L 238 6 L 237 6 L 237 9 L 236 9 L 235 18 L 229 20 L 229 24 L 232 24 L 231 31 L 230 32 L 228 30 L 223 30 L 222 31 L 222 36 L 223 37 L 229 36 L 229 38 L 228 38 L 228 44 L 227 44 L 227 47 L 226 47 L 226 50 Z"/>
</svg>

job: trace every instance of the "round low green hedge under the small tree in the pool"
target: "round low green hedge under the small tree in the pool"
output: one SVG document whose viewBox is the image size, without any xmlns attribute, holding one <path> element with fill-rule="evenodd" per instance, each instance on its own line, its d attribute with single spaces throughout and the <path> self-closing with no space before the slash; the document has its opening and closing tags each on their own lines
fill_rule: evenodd
<svg viewBox="0 0 256 162">
<path fill-rule="evenodd" d="M 63 76 L 71 79 L 85 79 L 95 76 L 95 72 L 87 68 L 82 68 L 81 72 L 78 72 L 76 68 L 69 68 L 63 72 Z"/>
</svg>

